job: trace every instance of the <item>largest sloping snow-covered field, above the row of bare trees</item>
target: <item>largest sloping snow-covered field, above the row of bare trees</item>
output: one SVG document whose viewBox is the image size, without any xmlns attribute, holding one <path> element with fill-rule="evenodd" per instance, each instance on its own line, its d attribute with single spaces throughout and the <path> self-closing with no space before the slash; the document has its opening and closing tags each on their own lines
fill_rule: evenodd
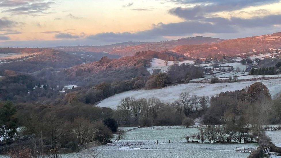
<svg viewBox="0 0 281 158">
<path fill-rule="evenodd" d="M 161 89 L 153 90 L 138 90 L 138 91 L 127 91 L 119 94 L 115 94 L 109 98 L 102 100 L 98 106 L 116 108 L 121 99 L 126 97 L 134 98 L 151 98 L 157 97 L 163 102 L 173 102 L 179 98 L 181 92 L 189 92 L 191 95 L 196 94 L 198 96 L 214 96 L 220 92 L 241 90 L 242 88 L 251 85 L 257 81 L 245 81 L 235 83 L 187 83 L 164 87 Z M 272 96 L 277 94 L 281 90 L 281 79 L 270 79 L 259 81 L 264 83 Z M 203 86 L 203 87 L 201 87 Z"/>
</svg>

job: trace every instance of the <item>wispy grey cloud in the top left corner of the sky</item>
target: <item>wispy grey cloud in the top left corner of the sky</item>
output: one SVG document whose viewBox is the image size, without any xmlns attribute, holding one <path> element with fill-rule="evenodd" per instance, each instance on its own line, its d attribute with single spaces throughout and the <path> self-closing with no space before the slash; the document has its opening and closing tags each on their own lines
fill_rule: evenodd
<svg viewBox="0 0 281 158">
<path fill-rule="evenodd" d="M 55 4 L 52 1 L 41 0 L 0 0 L 0 7 L 9 7 L 9 9 L 2 12 L 10 12 L 12 15 L 32 15 L 39 16 L 43 14 L 50 14 L 47 11 L 51 5 Z"/>
</svg>

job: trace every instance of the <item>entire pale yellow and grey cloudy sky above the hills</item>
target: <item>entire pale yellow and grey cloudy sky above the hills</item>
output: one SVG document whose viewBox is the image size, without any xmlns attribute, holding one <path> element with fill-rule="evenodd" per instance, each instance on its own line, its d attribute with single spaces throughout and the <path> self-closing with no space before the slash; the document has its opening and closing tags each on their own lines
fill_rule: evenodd
<svg viewBox="0 0 281 158">
<path fill-rule="evenodd" d="M 0 0 L 0 47 L 281 32 L 279 0 Z"/>
</svg>

